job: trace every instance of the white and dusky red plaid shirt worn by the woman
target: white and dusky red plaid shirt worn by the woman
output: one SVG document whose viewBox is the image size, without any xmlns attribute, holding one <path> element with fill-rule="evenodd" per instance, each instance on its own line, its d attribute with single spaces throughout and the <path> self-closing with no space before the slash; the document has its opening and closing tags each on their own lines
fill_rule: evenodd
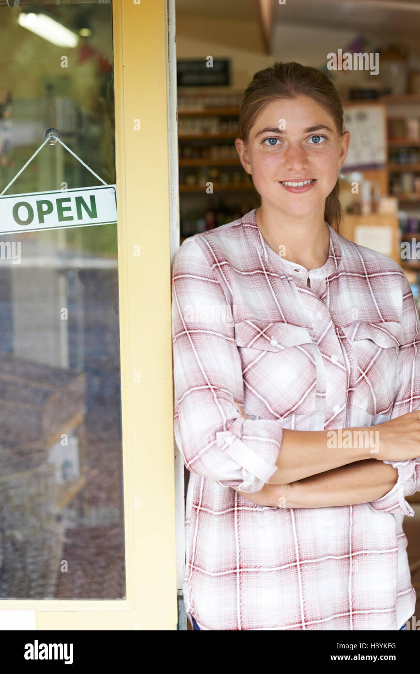
<svg viewBox="0 0 420 674">
<path fill-rule="evenodd" d="M 201 630 L 398 630 L 415 608 L 402 522 L 419 458 L 386 462 L 398 482 L 358 505 L 271 508 L 230 487 L 269 481 L 283 428 L 373 426 L 420 408 L 413 293 L 396 262 L 329 224 L 328 259 L 308 273 L 269 247 L 255 214 L 189 237 L 174 259 L 186 611 Z"/>
</svg>

